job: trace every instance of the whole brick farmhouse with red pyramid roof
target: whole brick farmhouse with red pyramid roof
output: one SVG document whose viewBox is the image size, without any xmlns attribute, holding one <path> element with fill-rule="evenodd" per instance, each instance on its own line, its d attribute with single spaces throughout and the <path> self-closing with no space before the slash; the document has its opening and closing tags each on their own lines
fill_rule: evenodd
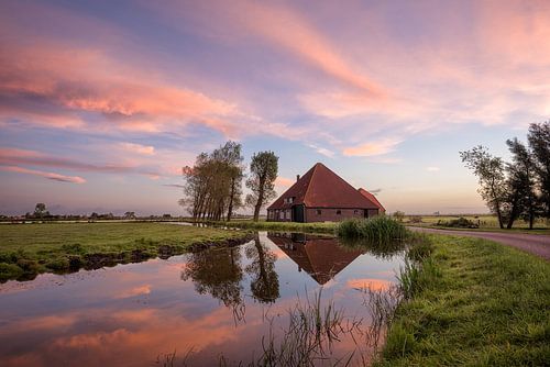
<svg viewBox="0 0 550 367">
<path fill-rule="evenodd" d="M 356 190 L 318 163 L 267 208 L 267 220 L 277 222 L 338 222 L 369 218 L 384 207 L 372 193 Z"/>
</svg>

